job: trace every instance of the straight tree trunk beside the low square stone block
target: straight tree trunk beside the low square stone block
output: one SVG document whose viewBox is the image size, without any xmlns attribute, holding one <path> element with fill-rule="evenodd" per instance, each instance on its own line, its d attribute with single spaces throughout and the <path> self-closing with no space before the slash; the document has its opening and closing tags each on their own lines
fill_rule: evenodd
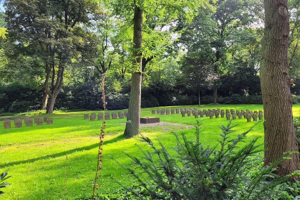
<svg viewBox="0 0 300 200">
<path fill-rule="evenodd" d="M 143 12 L 140 7 L 134 8 L 133 18 L 133 61 L 132 65 L 137 68 L 131 74 L 131 89 L 129 99 L 128 117 L 124 135 L 132 137 L 140 131 L 140 114 L 141 114 L 141 87 L 142 87 L 142 33 L 143 33 Z"/>
</svg>

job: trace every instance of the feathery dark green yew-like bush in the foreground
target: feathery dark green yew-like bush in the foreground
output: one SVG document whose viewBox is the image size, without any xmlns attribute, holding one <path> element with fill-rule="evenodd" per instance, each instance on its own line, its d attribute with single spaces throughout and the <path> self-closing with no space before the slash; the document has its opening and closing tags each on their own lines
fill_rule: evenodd
<svg viewBox="0 0 300 200">
<path fill-rule="evenodd" d="M 232 126 L 230 120 L 227 126 L 220 126 L 220 140 L 214 147 L 204 147 L 199 142 L 200 125 L 201 121 L 197 121 L 196 138 L 192 141 L 187 139 L 185 133 L 174 133 L 177 157 L 171 156 L 161 142 L 158 141 L 158 148 L 148 137 L 142 136 L 141 139 L 152 151 L 144 151 L 139 147 L 143 159 L 125 153 L 132 159 L 132 165 L 124 166 L 115 162 L 145 190 L 124 188 L 138 197 L 155 200 L 269 199 L 276 193 L 273 188 L 292 176 L 280 178 L 272 173 L 275 166 L 287 159 L 284 156 L 290 153 L 272 165 L 262 167 L 263 159 L 259 153 L 263 151 L 263 144 L 257 144 L 259 137 L 246 141 L 247 133 L 255 125 L 230 138 L 229 134 L 235 132 L 232 128 L 236 126 Z"/>
</svg>

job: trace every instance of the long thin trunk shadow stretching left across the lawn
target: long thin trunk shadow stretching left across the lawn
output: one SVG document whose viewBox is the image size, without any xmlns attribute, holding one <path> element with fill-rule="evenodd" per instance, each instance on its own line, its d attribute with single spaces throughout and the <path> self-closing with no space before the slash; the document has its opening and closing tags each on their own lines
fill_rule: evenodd
<svg viewBox="0 0 300 200">
<path fill-rule="evenodd" d="M 123 139 L 125 139 L 124 135 L 120 134 L 119 136 L 117 136 L 113 139 L 104 141 L 104 145 L 111 144 L 111 143 L 114 143 L 114 142 L 118 142 L 118 141 L 123 140 Z M 42 157 L 38 157 L 38 158 L 32 158 L 32 159 L 28 159 L 28 160 L 20 160 L 20 161 L 6 163 L 6 164 L 1 164 L 0 168 L 9 167 L 9 166 L 13 166 L 13 165 L 19 165 L 19 164 L 28 164 L 28 163 L 33 163 L 37 160 L 43 160 L 43 159 L 48 159 L 48 158 L 55 158 L 55 157 L 65 156 L 66 154 L 72 154 L 76 151 L 90 150 L 92 148 L 97 148 L 98 146 L 99 146 L 99 143 L 97 142 L 97 143 L 89 145 L 89 146 L 75 148 L 75 149 L 72 149 L 72 150 L 63 151 L 63 152 L 56 153 L 56 154 L 46 155 L 46 156 L 42 156 Z"/>
</svg>

